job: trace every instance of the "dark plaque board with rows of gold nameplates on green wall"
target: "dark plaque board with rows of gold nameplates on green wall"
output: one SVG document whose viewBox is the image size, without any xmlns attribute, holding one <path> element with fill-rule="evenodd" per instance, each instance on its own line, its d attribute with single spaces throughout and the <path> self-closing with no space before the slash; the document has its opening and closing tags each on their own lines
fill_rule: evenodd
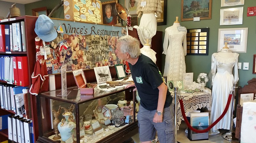
<svg viewBox="0 0 256 143">
<path fill-rule="evenodd" d="M 187 55 L 208 55 L 209 28 L 187 29 Z"/>
</svg>

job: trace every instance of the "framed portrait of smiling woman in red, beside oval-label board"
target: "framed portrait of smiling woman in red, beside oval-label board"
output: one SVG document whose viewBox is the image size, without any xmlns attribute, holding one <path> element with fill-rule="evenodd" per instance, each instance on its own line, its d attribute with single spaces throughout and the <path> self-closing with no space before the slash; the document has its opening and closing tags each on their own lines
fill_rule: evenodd
<svg viewBox="0 0 256 143">
<path fill-rule="evenodd" d="M 117 0 L 101 3 L 103 24 L 117 24 L 117 12 L 115 8 L 116 3 Z"/>
</svg>

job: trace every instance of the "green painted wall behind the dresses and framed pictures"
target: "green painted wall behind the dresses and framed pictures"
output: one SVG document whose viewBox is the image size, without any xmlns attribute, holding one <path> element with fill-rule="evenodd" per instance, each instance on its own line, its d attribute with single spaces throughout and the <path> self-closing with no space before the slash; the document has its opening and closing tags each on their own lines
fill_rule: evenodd
<svg viewBox="0 0 256 143">
<path fill-rule="evenodd" d="M 107 2 L 109 0 L 101 0 L 101 2 Z M 181 17 L 181 0 L 168 0 L 167 1 L 167 25 L 158 26 L 157 30 L 163 31 L 163 37 L 165 29 L 173 24 L 176 20 L 175 17 L 179 17 L 180 24 L 185 26 L 187 29 L 194 28 L 210 28 L 209 32 L 209 55 L 186 55 L 186 72 L 194 73 L 194 81 L 200 73 L 209 73 L 211 70 L 211 55 L 217 52 L 218 49 L 218 29 L 220 28 L 244 28 L 248 27 L 248 38 L 247 38 L 247 52 L 239 53 L 239 62 L 249 62 L 249 70 L 238 69 L 239 81 L 238 86 L 244 86 L 247 81 L 256 77 L 256 74 L 252 74 L 252 59 L 253 54 L 256 54 L 256 16 L 247 17 L 247 7 L 256 6 L 255 0 L 245 0 L 245 5 L 221 7 L 220 0 L 212 0 L 212 19 L 201 20 L 199 22 L 180 20 Z M 26 15 L 32 15 L 31 10 L 46 6 L 49 10 L 52 10 L 61 0 L 43 0 L 35 3 L 25 4 Z M 119 0 L 119 3 L 124 5 L 124 0 Z M 243 24 L 242 25 L 222 25 L 220 26 L 220 9 L 233 8 L 233 7 L 244 7 Z M 64 18 L 63 6 L 60 7 L 55 14 L 52 16 L 55 18 Z M 162 48 L 162 45 L 159 45 Z M 164 66 L 165 55 L 162 56 L 162 65 Z M 164 69 L 164 67 L 162 67 Z M 209 83 L 207 84 L 209 87 Z"/>
</svg>

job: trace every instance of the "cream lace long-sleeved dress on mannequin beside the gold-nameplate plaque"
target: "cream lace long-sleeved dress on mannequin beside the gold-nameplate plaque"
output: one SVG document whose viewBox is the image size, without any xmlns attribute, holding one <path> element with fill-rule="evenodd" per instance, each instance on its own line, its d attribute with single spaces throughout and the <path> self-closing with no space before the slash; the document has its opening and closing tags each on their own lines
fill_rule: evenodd
<svg viewBox="0 0 256 143">
<path fill-rule="evenodd" d="M 174 82 L 183 80 L 183 73 L 186 73 L 185 55 L 187 55 L 187 29 L 184 27 L 184 31 L 179 31 L 177 27 L 180 27 L 178 17 L 172 26 L 165 29 L 163 42 L 163 54 L 166 55 L 163 76 L 167 76 L 167 81 Z"/>
</svg>

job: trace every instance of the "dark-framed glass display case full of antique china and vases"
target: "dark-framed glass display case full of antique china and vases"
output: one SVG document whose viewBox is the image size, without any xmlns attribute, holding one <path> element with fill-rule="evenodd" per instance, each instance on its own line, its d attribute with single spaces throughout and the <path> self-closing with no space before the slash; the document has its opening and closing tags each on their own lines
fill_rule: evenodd
<svg viewBox="0 0 256 143">
<path fill-rule="evenodd" d="M 97 86 L 96 86 L 97 87 Z M 135 120 L 134 88 L 94 89 L 93 95 L 81 95 L 77 87 L 38 94 L 39 137 L 37 142 L 120 142 L 138 131 Z M 124 107 L 117 104 L 127 101 Z M 124 102 L 125 103 L 125 102 Z M 131 104 L 130 104 L 131 103 Z M 105 106 L 107 105 L 107 106 Z M 124 108 L 129 107 L 129 114 Z M 135 132 L 134 132 L 135 131 Z"/>
</svg>

